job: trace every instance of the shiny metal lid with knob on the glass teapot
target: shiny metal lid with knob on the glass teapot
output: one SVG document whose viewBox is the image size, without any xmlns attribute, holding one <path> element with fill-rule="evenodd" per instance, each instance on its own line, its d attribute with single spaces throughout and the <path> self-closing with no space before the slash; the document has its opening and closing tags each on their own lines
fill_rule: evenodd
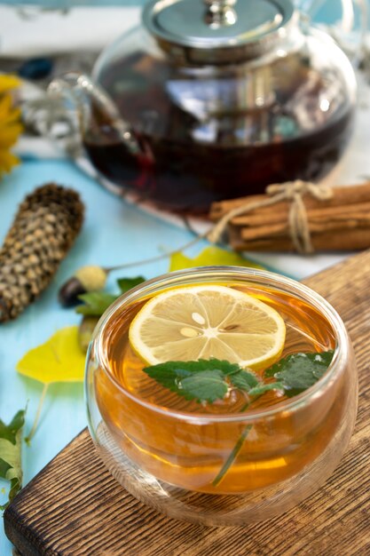
<svg viewBox="0 0 370 556">
<path fill-rule="evenodd" d="M 224 64 L 271 50 L 294 11 L 292 0 L 152 0 L 142 17 L 175 58 Z"/>
</svg>

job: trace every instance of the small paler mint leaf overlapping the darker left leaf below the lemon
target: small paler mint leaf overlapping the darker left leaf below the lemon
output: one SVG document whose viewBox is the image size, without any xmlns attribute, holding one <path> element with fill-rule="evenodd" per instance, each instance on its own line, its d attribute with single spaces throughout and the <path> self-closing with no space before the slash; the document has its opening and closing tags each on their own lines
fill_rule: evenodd
<svg viewBox="0 0 370 556">
<path fill-rule="evenodd" d="M 224 381 L 224 373 L 221 370 L 202 370 L 193 373 L 189 377 L 178 381 L 181 395 L 187 400 L 209 401 L 222 400 L 227 393 L 228 385 Z"/>
</svg>

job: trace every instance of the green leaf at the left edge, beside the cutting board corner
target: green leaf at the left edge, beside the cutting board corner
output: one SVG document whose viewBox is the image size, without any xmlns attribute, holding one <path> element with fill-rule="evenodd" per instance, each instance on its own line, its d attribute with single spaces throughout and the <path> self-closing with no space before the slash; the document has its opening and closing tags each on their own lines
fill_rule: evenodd
<svg viewBox="0 0 370 556">
<path fill-rule="evenodd" d="M 21 435 L 26 411 L 20 409 L 9 425 L 0 419 L 0 477 L 10 481 L 9 501 L 0 505 L 4 510 L 22 486 Z"/>
</svg>

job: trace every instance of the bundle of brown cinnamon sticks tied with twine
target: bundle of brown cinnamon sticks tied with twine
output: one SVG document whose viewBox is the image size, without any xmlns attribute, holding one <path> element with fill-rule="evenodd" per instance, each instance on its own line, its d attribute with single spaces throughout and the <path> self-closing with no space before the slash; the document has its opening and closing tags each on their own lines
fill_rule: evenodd
<svg viewBox="0 0 370 556">
<path fill-rule="evenodd" d="M 230 210 L 263 201 L 268 195 L 251 195 L 213 203 L 209 217 L 218 221 Z M 330 199 L 305 195 L 303 202 L 311 244 L 315 251 L 362 250 L 370 247 L 370 181 L 361 186 L 333 187 Z M 234 250 L 294 251 L 289 230 L 290 202 L 246 211 L 228 224 Z"/>
</svg>

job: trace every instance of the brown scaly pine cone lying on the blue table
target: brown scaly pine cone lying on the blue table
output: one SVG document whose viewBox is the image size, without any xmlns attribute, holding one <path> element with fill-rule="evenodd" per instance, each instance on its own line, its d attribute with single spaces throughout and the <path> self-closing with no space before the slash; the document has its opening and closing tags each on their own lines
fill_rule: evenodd
<svg viewBox="0 0 370 556">
<path fill-rule="evenodd" d="M 16 318 L 49 285 L 83 224 L 73 189 L 46 184 L 20 204 L 0 250 L 0 322 Z"/>
</svg>

